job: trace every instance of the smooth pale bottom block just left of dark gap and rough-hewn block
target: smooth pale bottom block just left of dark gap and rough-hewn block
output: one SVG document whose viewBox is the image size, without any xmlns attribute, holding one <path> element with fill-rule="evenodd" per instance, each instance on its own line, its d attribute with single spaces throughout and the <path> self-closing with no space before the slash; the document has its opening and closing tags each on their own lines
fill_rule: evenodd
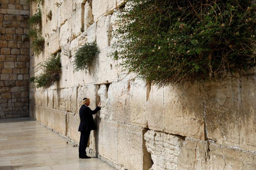
<svg viewBox="0 0 256 170">
<path fill-rule="evenodd" d="M 143 169 L 143 129 L 117 124 L 117 163 L 131 170 Z"/>
</svg>

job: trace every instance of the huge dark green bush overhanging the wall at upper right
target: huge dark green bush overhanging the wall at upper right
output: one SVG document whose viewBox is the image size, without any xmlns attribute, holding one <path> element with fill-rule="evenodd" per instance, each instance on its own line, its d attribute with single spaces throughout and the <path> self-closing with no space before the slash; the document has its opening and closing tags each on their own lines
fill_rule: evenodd
<svg viewBox="0 0 256 170">
<path fill-rule="evenodd" d="M 128 0 L 112 55 L 158 86 L 244 72 L 256 64 L 255 11 L 253 0 Z"/>
</svg>

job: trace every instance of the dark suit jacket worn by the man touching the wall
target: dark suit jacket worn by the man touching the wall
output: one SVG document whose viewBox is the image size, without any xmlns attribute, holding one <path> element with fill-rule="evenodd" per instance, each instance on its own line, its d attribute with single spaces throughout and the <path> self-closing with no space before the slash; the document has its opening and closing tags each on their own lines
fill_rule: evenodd
<svg viewBox="0 0 256 170">
<path fill-rule="evenodd" d="M 100 107 L 96 107 L 95 110 L 91 110 L 90 107 L 82 105 L 79 110 L 80 124 L 78 131 L 91 131 L 97 129 L 92 115 L 96 114 L 100 110 Z"/>
</svg>

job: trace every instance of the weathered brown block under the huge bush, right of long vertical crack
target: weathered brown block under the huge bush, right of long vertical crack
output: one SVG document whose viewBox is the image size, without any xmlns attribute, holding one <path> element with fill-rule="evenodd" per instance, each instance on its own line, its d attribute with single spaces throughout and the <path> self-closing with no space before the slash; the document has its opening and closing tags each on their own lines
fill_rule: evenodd
<svg viewBox="0 0 256 170">
<path fill-rule="evenodd" d="M 235 78 L 236 79 L 236 78 Z M 208 139 L 224 145 L 238 145 L 240 115 L 239 80 L 203 84 L 205 121 Z"/>
</svg>

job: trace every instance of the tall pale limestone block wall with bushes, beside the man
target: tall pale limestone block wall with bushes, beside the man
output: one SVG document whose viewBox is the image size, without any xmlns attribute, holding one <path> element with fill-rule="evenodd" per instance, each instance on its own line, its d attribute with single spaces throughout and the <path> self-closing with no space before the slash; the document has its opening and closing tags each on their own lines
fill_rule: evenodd
<svg viewBox="0 0 256 170">
<path fill-rule="evenodd" d="M 112 166 L 129 170 L 256 169 L 256 76 L 223 82 L 154 85 L 136 78 L 108 57 L 116 14 L 123 0 L 44 0 L 44 51 L 30 53 L 30 76 L 42 72 L 49 53 L 61 52 L 60 81 L 30 88 L 30 116 L 78 142 L 80 102 L 91 99 L 98 126 L 90 149 Z M 30 4 L 33 14 L 38 8 Z M 52 20 L 46 14 L 52 10 Z M 81 28 L 84 27 L 84 32 Z M 74 55 L 96 41 L 100 53 L 88 73 L 74 72 Z"/>
</svg>

